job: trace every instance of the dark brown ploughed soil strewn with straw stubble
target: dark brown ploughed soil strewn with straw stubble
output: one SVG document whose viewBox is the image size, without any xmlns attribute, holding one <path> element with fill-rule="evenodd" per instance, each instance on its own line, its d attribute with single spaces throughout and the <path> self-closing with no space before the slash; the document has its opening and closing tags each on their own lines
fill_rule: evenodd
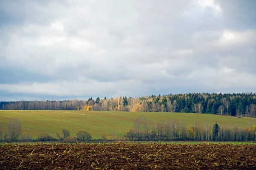
<svg viewBox="0 0 256 170">
<path fill-rule="evenodd" d="M 256 169 L 256 145 L 5 144 L 0 169 Z"/>
</svg>

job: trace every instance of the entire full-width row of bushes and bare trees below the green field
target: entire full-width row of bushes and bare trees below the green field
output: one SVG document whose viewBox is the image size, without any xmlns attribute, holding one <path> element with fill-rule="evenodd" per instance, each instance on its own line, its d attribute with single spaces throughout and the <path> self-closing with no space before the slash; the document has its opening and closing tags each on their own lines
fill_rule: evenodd
<svg viewBox="0 0 256 170">
<path fill-rule="evenodd" d="M 102 139 L 97 141 L 113 141 Z M 223 142 L 250 142 L 256 141 L 256 124 L 245 129 L 241 127 L 220 127 L 217 122 L 214 125 L 200 124 L 186 128 L 183 122 L 160 121 L 154 123 L 149 119 L 138 117 L 134 121 L 133 129 L 129 130 L 123 139 L 130 141 L 223 141 Z M 89 142 L 92 136 L 87 131 L 79 131 L 76 136 L 70 136 L 70 131 L 62 129 L 61 133 L 56 133 L 56 137 L 47 133 L 40 133 L 37 139 L 32 139 L 29 135 L 21 134 L 21 124 L 19 119 L 11 119 L 8 124 L 8 132 L 0 131 L 0 142 L 51 142 L 60 141 L 67 143 Z"/>
</svg>

